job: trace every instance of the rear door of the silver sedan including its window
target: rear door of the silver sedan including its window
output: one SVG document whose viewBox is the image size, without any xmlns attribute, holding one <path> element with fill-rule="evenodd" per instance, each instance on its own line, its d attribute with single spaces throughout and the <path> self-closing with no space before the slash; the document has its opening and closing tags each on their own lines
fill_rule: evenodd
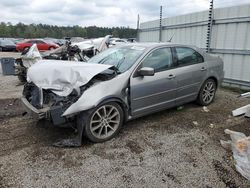
<svg viewBox="0 0 250 188">
<path fill-rule="evenodd" d="M 177 81 L 176 105 L 196 99 L 200 86 L 207 75 L 207 64 L 196 50 L 189 47 L 175 47 L 177 60 L 175 76 Z"/>
</svg>

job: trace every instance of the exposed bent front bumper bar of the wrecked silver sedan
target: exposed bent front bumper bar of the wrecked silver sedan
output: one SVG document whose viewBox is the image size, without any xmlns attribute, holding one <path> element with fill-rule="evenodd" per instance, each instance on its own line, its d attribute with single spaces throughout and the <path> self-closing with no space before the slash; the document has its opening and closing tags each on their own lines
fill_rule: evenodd
<svg viewBox="0 0 250 188">
<path fill-rule="evenodd" d="M 46 119 L 49 116 L 49 108 L 37 109 L 32 106 L 25 97 L 21 97 L 22 105 L 26 112 L 35 119 Z"/>
</svg>

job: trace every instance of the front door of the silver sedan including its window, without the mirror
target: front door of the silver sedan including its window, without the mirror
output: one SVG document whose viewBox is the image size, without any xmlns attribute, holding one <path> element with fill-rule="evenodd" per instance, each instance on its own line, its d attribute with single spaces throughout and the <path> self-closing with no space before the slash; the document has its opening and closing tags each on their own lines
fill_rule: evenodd
<svg viewBox="0 0 250 188">
<path fill-rule="evenodd" d="M 168 47 L 151 51 L 130 79 L 131 112 L 142 116 L 175 105 L 176 80 L 172 69 L 172 52 Z M 142 67 L 154 68 L 153 76 L 137 74 Z"/>
</svg>

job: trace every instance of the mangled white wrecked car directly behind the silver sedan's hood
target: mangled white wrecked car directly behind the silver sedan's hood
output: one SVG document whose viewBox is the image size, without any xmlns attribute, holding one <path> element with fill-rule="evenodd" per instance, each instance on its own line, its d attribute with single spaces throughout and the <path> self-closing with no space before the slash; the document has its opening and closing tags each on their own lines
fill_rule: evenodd
<svg viewBox="0 0 250 188">
<path fill-rule="evenodd" d="M 21 83 L 26 82 L 27 69 L 41 59 L 82 61 L 108 48 L 110 35 L 82 42 L 71 43 L 67 41 L 63 46 L 46 52 L 39 52 L 38 46 L 33 44 L 28 50 L 24 50 L 20 58 L 16 59 L 15 72 Z"/>
</svg>

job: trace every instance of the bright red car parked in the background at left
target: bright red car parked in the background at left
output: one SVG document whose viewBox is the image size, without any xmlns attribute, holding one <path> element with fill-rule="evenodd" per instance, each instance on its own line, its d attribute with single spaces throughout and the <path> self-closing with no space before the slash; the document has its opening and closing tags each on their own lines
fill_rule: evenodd
<svg viewBox="0 0 250 188">
<path fill-rule="evenodd" d="M 53 42 L 45 41 L 42 39 L 29 39 L 16 44 L 16 50 L 22 52 L 29 49 L 33 44 L 37 45 L 39 51 L 53 50 L 59 46 Z"/>
</svg>

